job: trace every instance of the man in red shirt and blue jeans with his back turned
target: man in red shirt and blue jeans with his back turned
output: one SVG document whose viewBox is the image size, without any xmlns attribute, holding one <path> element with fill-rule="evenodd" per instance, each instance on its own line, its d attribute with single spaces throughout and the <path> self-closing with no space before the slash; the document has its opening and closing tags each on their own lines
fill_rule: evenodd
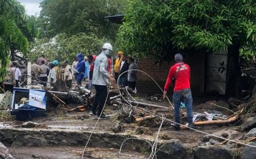
<svg viewBox="0 0 256 159">
<path fill-rule="evenodd" d="M 174 116 L 175 122 L 180 123 L 180 104 L 185 103 L 188 116 L 188 127 L 195 128 L 193 125 L 193 114 L 192 114 L 192 94 L 190 90 L 190 68 L 187 64 L 184 64 L 183 57 L 180 53 L 175 55 L 176 64 L 171 66 L 166 85 L 164 86 L 163 98 L 166 97 L 167 90 L 170 87 L 172 81 L 174 83 Z M 179 124 L 172 124 L 176 130 L 180 129 Z"/>
</svg>

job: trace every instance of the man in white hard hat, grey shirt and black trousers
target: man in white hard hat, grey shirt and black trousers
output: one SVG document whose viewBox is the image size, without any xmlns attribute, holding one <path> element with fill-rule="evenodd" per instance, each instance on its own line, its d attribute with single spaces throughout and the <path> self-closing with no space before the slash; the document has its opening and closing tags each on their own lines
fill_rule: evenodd
<svg viewBox="0 0 256 159">
<path fill-rule="evenodd" d="M 106 55 L 109 55 L 110 51 L 112 51 L 112 45 L 109 43 L 105 43 L 102 47 L 101 54 L 97 56 L 94 62 L 92 83 L 96 89 L 96 95 L 94 97 L 94 101 L 89 115 L 97 115 L 100 119 L 109 119 L 109 116 L 106 116 L 102 111 L 108 95 L 108 79 L 111 82 L 115 82 L 114 76 L 112 74 L 108 74 L 107 70 L 108 57 Z M 96 114 L 97 106 L 98 112 Z"/>
</svg>

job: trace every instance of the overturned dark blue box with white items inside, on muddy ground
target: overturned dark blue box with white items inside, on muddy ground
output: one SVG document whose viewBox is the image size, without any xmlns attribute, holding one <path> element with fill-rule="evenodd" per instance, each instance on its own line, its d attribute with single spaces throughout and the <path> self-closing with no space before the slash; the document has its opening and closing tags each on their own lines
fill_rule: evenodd
<svg viewBox="0 0 256 159">
<path fill-rule="evenodd" d="M 28 120 L 46 115 L 46 92 L 37 89 L 14 88 L 11 115 L 17 120 Z"/>
</svg>

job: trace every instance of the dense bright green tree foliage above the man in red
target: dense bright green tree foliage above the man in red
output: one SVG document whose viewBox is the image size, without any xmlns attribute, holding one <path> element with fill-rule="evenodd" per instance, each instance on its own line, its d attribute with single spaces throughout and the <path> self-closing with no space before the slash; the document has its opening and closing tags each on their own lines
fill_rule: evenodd
<svg viewBox="0 0 256 159">
<path fill-rule="evenodd" d="M 168 60 L 177 50 L 239 49 L 251 45 L 256 35 L 252 0 L 133 0 L 126 10 L 117 44 L 140 56 Z"/>
</svg>

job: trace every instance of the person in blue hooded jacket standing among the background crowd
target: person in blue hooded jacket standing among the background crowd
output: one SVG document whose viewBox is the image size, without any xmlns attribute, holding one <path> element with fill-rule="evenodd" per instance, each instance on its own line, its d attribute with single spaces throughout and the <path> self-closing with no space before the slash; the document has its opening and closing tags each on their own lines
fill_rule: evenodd
<svg viewBox="0 0 256 159">
<path fill-rule="evenodd" d="M 76 57 L 79 62 L 77 63 L 74 75 L 77 81 L 77 86 L 82 86 L 82 78 L 84 78 L 85 73 L 84 56 L 82 56 L 82 53 L 79 53 Z"/>
</svg>

